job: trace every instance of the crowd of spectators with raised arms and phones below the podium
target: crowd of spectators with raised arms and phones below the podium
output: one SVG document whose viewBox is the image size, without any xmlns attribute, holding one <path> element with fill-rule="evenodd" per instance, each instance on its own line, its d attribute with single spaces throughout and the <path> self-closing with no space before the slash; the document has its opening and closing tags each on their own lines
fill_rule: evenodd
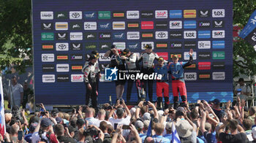
<svg viewBox="0 0 256 143">
<path fill-rule="evenodd" d="M 53 109 L 27 115 L 19 107 L 5 110 L 6 133 L 1 142 L 256 142 L 256 107 L 245 101 L 218 99 L 159 109 L 157 103 L 140 101 L 128 108 L 124 100 L 101 109 L 76 107 L 72 112 Z M 0 130 L 3 130 L 1 128 Z"/>
</svg>

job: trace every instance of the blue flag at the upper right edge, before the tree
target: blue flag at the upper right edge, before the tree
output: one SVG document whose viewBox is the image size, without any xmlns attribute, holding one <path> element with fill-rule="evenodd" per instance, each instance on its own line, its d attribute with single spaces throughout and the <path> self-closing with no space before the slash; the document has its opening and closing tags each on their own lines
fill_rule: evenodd
<svg viewBox="0 0 256 143">
<path fill-rule="evenodd" d="M 255 47 L 256 50 L 256 10 L 250 16 L 248 23 L 239 36 L 245 39 L 246 42 L 249 42 L 249 44 Z"/>
</svg>

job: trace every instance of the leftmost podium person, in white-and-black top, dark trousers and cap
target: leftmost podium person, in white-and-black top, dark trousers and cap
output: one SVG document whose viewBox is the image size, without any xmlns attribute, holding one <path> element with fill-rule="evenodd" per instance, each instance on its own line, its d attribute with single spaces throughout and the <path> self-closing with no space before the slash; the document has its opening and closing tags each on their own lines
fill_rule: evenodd
<svg viewBox="0 0 256 143">
<path fill-rule="evenodd" d="M 86 84 L 86 105 L 89 104 L 89 99 L 91 98 L 91 105 L 97 108 L 97 74 L 99 73 L 99 67 L 96 66 L 99 56 L 91 54 L 89 58 L 89 63 L 85 68 L 83 77 Z"/>
</svg>

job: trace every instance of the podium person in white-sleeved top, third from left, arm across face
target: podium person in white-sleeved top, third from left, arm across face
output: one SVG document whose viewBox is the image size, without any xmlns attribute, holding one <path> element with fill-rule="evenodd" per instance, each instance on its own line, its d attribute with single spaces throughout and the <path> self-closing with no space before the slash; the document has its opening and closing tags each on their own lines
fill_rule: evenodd
<svg viewBox="0 0 256 143">
<path fill-rule="evenodd" d="M 129 70 L 129 74 L 133 74 L 134 77 L 136 77 L 137 72 L 132 72 L 138 70 L 136 61 L 137 61 L 137 55 L 135 53 L 131 53 L 128 48 L 124 49 L 121 55 L 121 59 L 124 60 L 124 62 L 127 65 L 127 69 Z M 127 102 L 129 102 L 131 98 L 131 93 L 132 93 L 132 85 L 133 85 L 134 80 L 129 79 L 128 80 L 128 85 L 127 85 Z M 135 81 L 136 82 L 136 81 Z M 138 94 L 138 98 L 140 98 Z"/>
</svg>

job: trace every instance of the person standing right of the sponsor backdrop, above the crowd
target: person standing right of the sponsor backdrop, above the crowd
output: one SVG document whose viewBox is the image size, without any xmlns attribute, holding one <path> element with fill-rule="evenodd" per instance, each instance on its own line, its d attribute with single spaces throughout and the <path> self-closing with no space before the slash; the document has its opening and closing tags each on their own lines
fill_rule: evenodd
<svg viewBox="0 0 256 143">
<path fill-rule="evenodd" d="M 250 95 L 251 92 L 251 88 L 249 88 L 249 85 L 246 85 L 244 83 L 244 79 L 240 78 L 238 80 L 238 85 L 236 85 L 235 91 L 234 93 L 236 94 L 236 96 L 238 96 L 241 100 L 244 99 L 244 101 L 246 101 L 246 96 Z"/>
</svg>

